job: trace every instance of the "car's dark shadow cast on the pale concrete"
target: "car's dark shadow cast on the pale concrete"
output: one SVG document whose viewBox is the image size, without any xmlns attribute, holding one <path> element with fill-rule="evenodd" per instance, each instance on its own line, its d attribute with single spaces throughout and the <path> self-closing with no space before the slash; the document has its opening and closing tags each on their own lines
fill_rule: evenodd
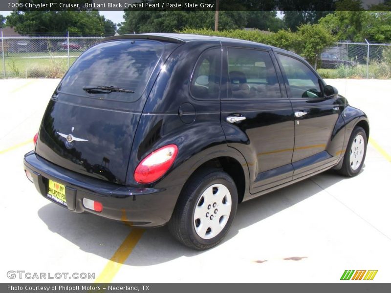
<svg viewBox="0 0 391 293">
<path fill-rule="evenodd" d="M 319 178 L 320 176 L 322 178 Z M 322 187 L 315 183 L 317 178 L 322 179 Z M 342 180 L 348 179 L 330 170 L 311 179 L 241 203 L 232 227 L 223 243 L 235 237 L 239 230 L 288 209 L 322 191 L 322 188 L 327 188 Z M 45 205 L 39 209 L 38 215 L 50 231 L 61 235 L 83 251 L 107 259 L 111 258 L 131 230 L 129 226 L 121 222 L 97 217 L 89 213 L 71 213 L 56 204 Z M 267 238 L 267 235 L 264 235 L 264 237 Z M 246 241 L 251 241 L 251 239 Z M 219 247 L 217 246 L 214 249 L 219 249 Z M 176 242 L 165 226 L 145 230 L 125 265 L 149 266 L 181 256 L 190 257 L 200 253 L 203 253 L 203 251 L 194 251 Z"/>
</svg>

